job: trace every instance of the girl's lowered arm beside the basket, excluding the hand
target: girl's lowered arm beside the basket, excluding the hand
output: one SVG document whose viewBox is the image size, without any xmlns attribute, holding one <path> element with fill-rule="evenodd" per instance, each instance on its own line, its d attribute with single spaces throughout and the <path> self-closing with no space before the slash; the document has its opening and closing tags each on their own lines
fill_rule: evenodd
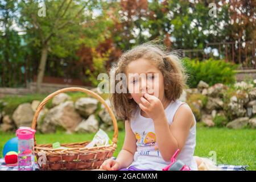
<svg viewBox="0 0 256 182">
<path fill-rule="evenodd" d="M 134 153 L 137 150 L 137 139 L 131 130 L 130 121 L 125 121 L 125 141 L 122 150 L 119 152 L 116 161 L 119 163 L 119 169 L 130 166 L 133 162 Z"/>
</svg>

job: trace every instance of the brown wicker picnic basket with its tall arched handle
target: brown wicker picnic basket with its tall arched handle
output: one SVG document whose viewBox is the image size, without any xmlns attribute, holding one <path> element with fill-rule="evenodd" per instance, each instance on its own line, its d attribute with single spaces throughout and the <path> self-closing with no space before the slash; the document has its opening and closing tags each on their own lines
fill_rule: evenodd
<svg viewBox="0 0 256 182">
<path fill-rule="evenodd" d="M 113 114 L 113 111 L 106 104 L 103 98 L 98 96 L 98 94 L 92 92 L 91 90 L 84 88 L 64 88 L 49 94 L 44 100 L 40 103 L 36 109 L 33 121 L 32 129 L 36 127 L 36 120 L 42 110 L 43 106 L 46 105 L 47 101 L 51 100 L 54 96 L 63 92 L 70 91 L 80 91 L 90 96 L 93 96 L 98 101 L 100 101 L 108 110 L 110 117 L 112 118 L 114 126 L 114 135 L 112 138 L 112 144 L 108 146 L 101 147 L 85 147 L 86 142 L 78 143 L 62 143 L 61 146 L 68 147 L 67 149 L 52 148 L 52 144 L 36 144 L 35 139 L 35 155 L 38 159 L 40 169 L 42 170 L 89 170 L 89 169 L 98 169 L 104 160 L 112 157 L 115 148 L 117 147 L 117 137 L 118 137 L 118 126 L 117 120 Z"/>
</svg>

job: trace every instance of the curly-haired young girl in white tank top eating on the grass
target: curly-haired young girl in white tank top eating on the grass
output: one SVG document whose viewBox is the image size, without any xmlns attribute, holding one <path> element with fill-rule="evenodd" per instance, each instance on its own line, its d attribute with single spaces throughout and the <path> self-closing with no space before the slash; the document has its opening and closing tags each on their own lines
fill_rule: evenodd
<svg viewBox="0 0 256 182">
<path fill-rule="evenodd" d="M 154 44 L 142 44 L 120 57 L 115 76 L 118 73 L 125 73 L 128 92 L 115 92 L 110 100 L 125 120 L 125 141 L 117 159 L 105 160 L 100 169 L 159 171 L 179 148 L 177 159 L 197 170 L 196 119 L 178 100 L 186 79 L 178 57 Z M 136 77 L 141 74 L 146 78 Z"/>
</svg>

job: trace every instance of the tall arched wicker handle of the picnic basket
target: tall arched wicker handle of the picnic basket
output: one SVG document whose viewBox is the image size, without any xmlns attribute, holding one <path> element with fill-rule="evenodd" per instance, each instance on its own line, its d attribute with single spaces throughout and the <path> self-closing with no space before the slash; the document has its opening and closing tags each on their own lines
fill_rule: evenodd
<svg viewBox="0 0 256 182">
<path fill-rule="evenodd" d="M 110 114 L 110 117 L 112 118 L 112 122 L 113 122 L 113 126 L 114 126 L 114 135 L 113 135 L 113 138 L 112 138 L 112 142 L 114 142 L 116 144 L 117 143 L 117 137 L 118 137 L 118 126 L 117 126 L 117 119 L 115 119 L 115 115 L 114 115 L 112 109 L 110 109 L 108 104 L 106 104 L 105 100 L 101 96 L 99 96 L 97 93 L 95 93 L 91 90 L 85 89 L 85 88 L 80 88 L 80 87 L 69 87 L 69 88 L 60 89 L 60 90 L 57 90 L 56 92 L 53 92 L 53 93 L 49 94 L 49 96 L 44 98 L 44 100 L 39 104 L 38 108 L 35 111 L 35 115 L 34 115 L 34 118 L 32 120 L 31 128 L 35 129 L 36 121 L 38 119 L 38 115 L 39 115 L 40 111 L 43 109 L 43 106 L 46 105 L 46 103 L 49 100 L 51 100 L 51 98 L 55 97 L 57 94 L 60 94 L 60 93 L 63 93 L 63 92 L 72 92 L 72 91 L 74 91 L 74 92 L 84 92 L 86 94 L 89 94 L 90 96 L 93 96 L 98 101 L 100 101 L 101 104 L 103 104 L 106 107 L 106 109 L 108 110 L 108 112 Z M 35 143 L 36 143 L 36 140 L 35 140 Z"/>
</svg>

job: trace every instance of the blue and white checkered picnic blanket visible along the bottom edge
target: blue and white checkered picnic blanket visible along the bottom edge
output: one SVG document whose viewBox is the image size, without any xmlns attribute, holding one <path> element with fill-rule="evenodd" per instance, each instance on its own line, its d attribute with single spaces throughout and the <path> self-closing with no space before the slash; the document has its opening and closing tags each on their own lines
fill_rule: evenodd
<svg viewBox="0 0 256 182">
<path fill-rule="evenodd" d="M 248 166 L 232 166 L 226 164 L 219 164 L 218 167 L 222 168 L 224 171 L 246 171 Z M 39 166 L 36 164 L 36 171 L 39 170 Z M 18 171 L 18 166 L 7 166 L 5 164 L 5 159 L 0 159 L 0 171 Z"/>
</svg>

